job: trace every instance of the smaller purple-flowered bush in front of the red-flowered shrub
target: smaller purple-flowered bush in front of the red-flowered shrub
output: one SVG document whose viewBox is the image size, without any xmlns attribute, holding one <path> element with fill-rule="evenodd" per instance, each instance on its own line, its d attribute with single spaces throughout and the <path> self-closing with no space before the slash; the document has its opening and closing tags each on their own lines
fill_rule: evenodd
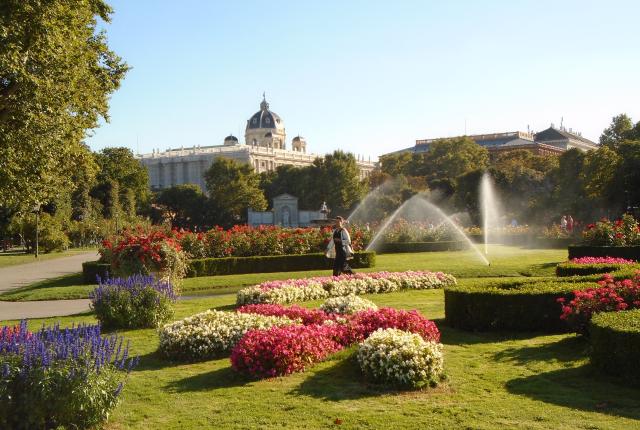
<svg viewBox="0 0 640 430">
<path fill-rule="evenodd" d="M 104 327 L 158 327 L 173 316 L 176 294 L 168 281 L 153 276 L 98 278 L 98 287 L 89 294 L 91 308 Z"/>
</svg>

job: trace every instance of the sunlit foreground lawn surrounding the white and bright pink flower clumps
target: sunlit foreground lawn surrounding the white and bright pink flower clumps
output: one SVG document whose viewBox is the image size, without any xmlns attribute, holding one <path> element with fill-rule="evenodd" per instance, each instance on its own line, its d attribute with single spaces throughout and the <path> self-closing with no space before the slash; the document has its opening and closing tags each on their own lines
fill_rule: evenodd
<svg viewBox="0 0 640 430">
<path fill-rule="evenodd" d="M 640 390 L 598 376 L 580 338 L 447 328 L 441 290 L 367 298 L 380 306 L 418 309 L 436 320 L 445 346 L 444 385 L 393 392 L 369 384 L 360 376 L 352 349 L 305 373 L 250 380 L 236 374 L 228 358 L 193 364 L 165 361 L 155 354 L 154 330 L 131 330 L 123 334 L 141 363 L 106 428 L 640 428 Z M 234 300 L 225 294 L 182 301 L 176 317 L 230 309 Z M 55 321 L 68 326 L 93 322 L 94 317 L 32 320 L 30 326 Z"/>
</svg>

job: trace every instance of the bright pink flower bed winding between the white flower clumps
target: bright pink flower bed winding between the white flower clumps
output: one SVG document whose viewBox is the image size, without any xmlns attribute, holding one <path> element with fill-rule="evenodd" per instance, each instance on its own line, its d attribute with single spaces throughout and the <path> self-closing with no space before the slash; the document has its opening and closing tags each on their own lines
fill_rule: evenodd
<svg viewBox="0 0 640 430">
<path fill-rule="evenodd" d="M 417 311 L 381 308 L 358 312 L 336 321 L 322 311 L 298 306 L 249 305 L 239 311 L 296 317 L 309 322 L 308 325 L 247 332 L 231 352 L 231 365 L 236 371 L 254 377 L 303 371 L 328 355 L 366 339 L 379 328 L 396 328 L 417 333 L 428 341 L 440 342 L 438 327 Z M 323 314 L 324 319 L 319 321 Z"/>
</svg>

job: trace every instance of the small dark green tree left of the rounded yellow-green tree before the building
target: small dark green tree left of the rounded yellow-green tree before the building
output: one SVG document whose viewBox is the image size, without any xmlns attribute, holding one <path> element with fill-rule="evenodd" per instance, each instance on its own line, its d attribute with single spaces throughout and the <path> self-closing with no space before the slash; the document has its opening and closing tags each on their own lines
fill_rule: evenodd
<svg viewBox="0 0 640 430">
<path fill-rule="evenodd" d="M 172 227 L 193 229 L 206 223 L 207 196 L 195 184 L 166 188 L 158 193 L 156 203 L 169 213 Z"/>
</svg>

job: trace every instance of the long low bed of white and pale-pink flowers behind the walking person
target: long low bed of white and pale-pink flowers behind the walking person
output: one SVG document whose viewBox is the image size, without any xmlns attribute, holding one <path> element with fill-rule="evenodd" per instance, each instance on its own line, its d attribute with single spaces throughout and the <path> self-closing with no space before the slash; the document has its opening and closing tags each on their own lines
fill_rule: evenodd
<svg viewBox="0 0 640 430">
<path fill-rule="evenodd" d="M 286 281 L 269 281 L 243 288 L 239 305 L 249 303 L 292 303 L 359 294 L 388 293 L 410 289 L 431 289 L 455 285 L 456 279 L 442 272 L 375 272 Z"/>
</svg>

